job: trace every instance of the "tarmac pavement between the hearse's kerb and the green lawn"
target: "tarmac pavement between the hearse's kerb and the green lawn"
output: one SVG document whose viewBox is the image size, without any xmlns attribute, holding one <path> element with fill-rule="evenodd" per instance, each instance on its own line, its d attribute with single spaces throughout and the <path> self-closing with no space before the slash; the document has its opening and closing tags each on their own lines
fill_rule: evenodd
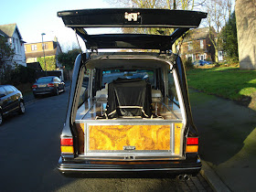
<svg viewBox="0 0 256 192">
<path fill-rule="evenodd" d="M 256 112 L 189 90 L 199 154 L 232 191 L 255 190 Z"/>
</svg>

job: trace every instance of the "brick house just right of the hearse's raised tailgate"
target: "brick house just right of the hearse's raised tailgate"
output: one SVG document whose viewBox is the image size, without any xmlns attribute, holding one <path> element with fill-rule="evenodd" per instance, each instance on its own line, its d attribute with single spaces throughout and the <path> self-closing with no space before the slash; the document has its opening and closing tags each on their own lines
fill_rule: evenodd
<svg viewBox="0 0 256 192">
<path fill-rule="evenodd" d="M 181 58 L 215 61 L 215 48 L 209 37 L 209 27 L 189 30 L 181 46 Z"/>
</svg>

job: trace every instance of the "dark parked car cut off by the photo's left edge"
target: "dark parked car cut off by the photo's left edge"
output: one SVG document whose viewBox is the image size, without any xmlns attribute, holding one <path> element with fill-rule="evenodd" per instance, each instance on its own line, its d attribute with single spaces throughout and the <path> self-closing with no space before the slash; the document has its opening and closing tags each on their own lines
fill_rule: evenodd
<svg viewBox="0 0 256 192">
<path fill-rule="evenodd" d="M 12 85 L 0 85 L 0 125 L 4 123 L 4 117 L 12 112 L 25 113 L 22 93 Z"/>
</svg>

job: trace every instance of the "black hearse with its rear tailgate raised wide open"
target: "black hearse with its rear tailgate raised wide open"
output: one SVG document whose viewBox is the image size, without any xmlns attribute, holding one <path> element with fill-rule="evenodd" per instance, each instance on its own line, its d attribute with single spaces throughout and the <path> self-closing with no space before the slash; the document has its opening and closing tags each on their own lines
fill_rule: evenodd
<svg viewBox="0 0 256 192">
<path fill-rule="evenodd" d="M 63 11 L 58 16 L 89 50 L 81 53 L 74 65 L 60 136 L 59 171 L 197 175 L 201 168 L 198 133 L 186 73 L 180 57 L 170 50 L 176 39 L 190 27 L 198 27 L 207 14 L 119 8 Z M 176 30 L 171 36 L 89 35 L 84 29 L 88 27 Z M 123 51 L 103 52 L 104 48 Z M 149 51 L 153 49 L 157 51 Z M 88 89 L 83 89 L 84 84 Z"/>
</svg>

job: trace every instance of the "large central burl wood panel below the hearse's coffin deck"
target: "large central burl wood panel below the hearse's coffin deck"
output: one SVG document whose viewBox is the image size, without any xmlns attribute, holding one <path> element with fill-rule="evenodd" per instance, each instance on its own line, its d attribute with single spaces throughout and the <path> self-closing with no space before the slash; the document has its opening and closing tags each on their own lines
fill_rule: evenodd
<svg viewBox="0 0 256 192">
<path fill-rule="evenodd" d="M 170 125 L 91 125 L 90 150 L 170 150 Z"/>
</svg>

